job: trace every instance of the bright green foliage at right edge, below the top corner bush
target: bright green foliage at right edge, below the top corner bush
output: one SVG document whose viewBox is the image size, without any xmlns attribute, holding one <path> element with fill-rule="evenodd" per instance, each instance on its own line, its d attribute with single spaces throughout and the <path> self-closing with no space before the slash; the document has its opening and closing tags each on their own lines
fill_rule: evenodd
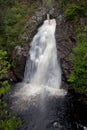
<svg viewBox="0 0 87 130">
<path fill-rule="evenodd" d="M 79 31 L 71 57 L 73 71 L 68 81 L 77 92 L 87 96 L 87 26 Z"/>
</svg>

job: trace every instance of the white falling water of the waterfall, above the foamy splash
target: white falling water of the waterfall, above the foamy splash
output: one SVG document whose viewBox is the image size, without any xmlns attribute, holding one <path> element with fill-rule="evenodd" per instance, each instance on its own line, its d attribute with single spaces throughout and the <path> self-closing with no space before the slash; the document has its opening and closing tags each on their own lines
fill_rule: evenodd
<svg viewBox="0 0 87 130">
<path fill-rule="evenodd" d="M 55 28 L 55 19 L 50 20 L 50 23 L 45 20 L 33 38 L 24 82 L 29 82 L 33 86 L 60 87 L 61 70 L 57 60 Z"/>
</svg>

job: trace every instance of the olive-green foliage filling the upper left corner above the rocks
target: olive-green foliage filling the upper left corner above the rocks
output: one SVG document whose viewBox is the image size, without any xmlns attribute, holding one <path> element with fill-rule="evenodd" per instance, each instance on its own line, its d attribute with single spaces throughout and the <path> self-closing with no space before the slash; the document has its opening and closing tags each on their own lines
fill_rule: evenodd
<svg viewBox="0 0 87 130">
<path fill-rule="evenodd" d="M 36 2 L 35 2 L 36 3 Z M 0 47 L 10 52 L 16 45 L 24 44 L 20 38 L 23 26 L 35 12 L 35 5 L 14 1 L 0 1 Z"/>
</svg>

